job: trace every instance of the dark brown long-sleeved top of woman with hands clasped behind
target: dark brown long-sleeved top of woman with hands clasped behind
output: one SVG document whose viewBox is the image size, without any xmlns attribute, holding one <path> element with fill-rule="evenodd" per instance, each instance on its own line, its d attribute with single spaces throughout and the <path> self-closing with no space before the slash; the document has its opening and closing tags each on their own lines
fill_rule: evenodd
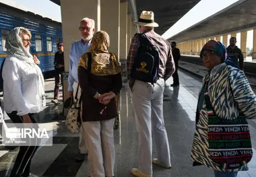
<svg viewBox="0 0 256 177">
<path fill-rule="evenodd" d="M 109 120 L 117 116 L 117 104 L 113 98 L 107 106 L 94 98 L 96 92 L 105 94 L 110 91 L 116 95 L 122 88 L 121 73 L 116 75 L 94 75 L 88 73 L 84 67 L 78 67 L 79 85 L 82 89 L 82 120 L 101 121 Z M 106 107 L 106 110 L 100 112 Z"/>
</svg>

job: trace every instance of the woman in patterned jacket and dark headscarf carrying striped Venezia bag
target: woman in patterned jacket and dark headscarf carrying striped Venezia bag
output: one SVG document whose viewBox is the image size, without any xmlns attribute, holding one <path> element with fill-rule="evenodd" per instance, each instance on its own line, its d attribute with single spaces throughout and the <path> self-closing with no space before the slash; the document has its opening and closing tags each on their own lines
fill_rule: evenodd
<svg viewBox="0 0 256 177">
<path fill-rule="evenodd" d="M 193 166 L 212 168 L 216 177 L 236 177 L 248 170 L 253 153 L 246 118 L 256 118 L 256 96 L 221 42 L 207 42 L 200 57 L 209 72 L 197 104 Z"/>
</svg>

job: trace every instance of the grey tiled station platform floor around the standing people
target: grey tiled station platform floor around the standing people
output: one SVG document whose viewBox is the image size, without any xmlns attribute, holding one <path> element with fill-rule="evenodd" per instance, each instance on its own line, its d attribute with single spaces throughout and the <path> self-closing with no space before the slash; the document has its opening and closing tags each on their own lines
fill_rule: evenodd
<svg viewBox="0 0 256 177">
<path fill-rule="evenodd" d="M 186 71 L 179 71 L 180 87 L 170 87 L 172 78 L 166 81 L 164 91 L 164 119 L 170 144 L 172 168 L 164 169 L 153 166 L 157 177 L 214 177 L 213 170 L 205 166 L 193 167 L 190 160 L 190 151 L 195 131 L 195 110 L 197 95 L 201 88 L 201 78 Z M 83 163 L 75 162 L 78 153 L 78 134 L 71 134 L 65 127 L 65 118 L 61 116 L 62 104 L 54 106 L 53 79 L 46 80 L 47 107 L 40 113 L 38 122 L 55 125 L 53 146 L 40 147 L 32 160 L 31 172 L 38 176 L 86 176 L 88 177 L 88 160 Z M 121 90 L 121 124 L 115 130 L 116 164 L 115 177 L 129 177 L 130 170 L 137 167 L 137 132 L 135 118 L 131 106 L 130 91 L 125 85 Z M 249 163 L 249 171 L 239 172 L 238 177 L 256 176 L 256 122 L 249 120 L 253 143 L 254 156 Z M 1 148 L 1 147 L 0 147 Z M 15 158 L 18 149 L 7 151 L 0 149 L 0 176 L 5 176 L 11 161 Z M 153 157 L 156 157 L 156 148 L 153 147 Z"/>
</svg>

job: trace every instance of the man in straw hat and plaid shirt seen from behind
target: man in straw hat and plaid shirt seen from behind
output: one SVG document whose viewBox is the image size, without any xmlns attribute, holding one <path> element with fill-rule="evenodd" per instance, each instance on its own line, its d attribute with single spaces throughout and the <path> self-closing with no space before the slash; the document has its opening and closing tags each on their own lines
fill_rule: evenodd
<svg viewBox="0 0 256 177">
<path fill-rule="evenodd" d="M 141 34 L 146 35 L 148 42 L 158 49 L 159 56 L 156 83 L 152 84 L 134 79 L 132 70 L 137 59 L 140 36 L 137 34 L 132 38 L 127 57 L 127 73 L 139 137 L 139 167 L 133 168 L 131 174 L 139 177 L 150 177 L 153 173 L 152 163 L 163 168 L 171 167 L 168 137 L 164 127 L 163 93 L 165 81 L 174 73 L 175 67 L 169 42 L 154 32 L 154 27 L 158 27 L 158 24 L 154 22 L 154 13 L 142 11 L 139 20 L 134 23 L 139 26 Z M 158 155 L 154 159 L 152 159 L 152 129 Z"/>
</svg>

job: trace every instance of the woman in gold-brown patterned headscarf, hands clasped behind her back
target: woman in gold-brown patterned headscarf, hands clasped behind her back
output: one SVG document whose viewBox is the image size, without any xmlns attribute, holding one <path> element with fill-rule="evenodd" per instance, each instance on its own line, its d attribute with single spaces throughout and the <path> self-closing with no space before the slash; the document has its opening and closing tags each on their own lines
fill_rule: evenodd
<svg viewBox="0 0 256 177">
<path fill-rule="evenodd" d="M 86 133 L 91 176 L 114 176 L 115 97 L 121 90 L 122 79 L 119 60 L 108 52 L 109 44 L 106 32 L 96 32 L 78 67 L 82 89 L 82 128 Z"/>
</svg>

